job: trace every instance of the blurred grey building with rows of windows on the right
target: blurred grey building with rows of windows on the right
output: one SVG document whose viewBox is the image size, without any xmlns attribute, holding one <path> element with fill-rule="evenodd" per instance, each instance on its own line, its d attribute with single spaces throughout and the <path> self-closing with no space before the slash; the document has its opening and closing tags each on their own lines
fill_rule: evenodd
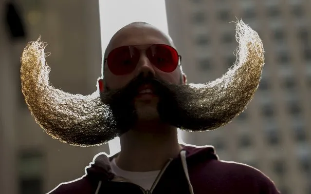
<svg viewBox="0 0 311 194">
<path fill-rule="evenodd" d="M 214 80 L 234 64 L 236 17 L 263 39 L 265 67 L 248 108 L 225 127 L 183 138 L 258 168 L 282 194 L 311 194 L 310 9 L 310 0 L 166 0 L 189 82 Z"/>
</svg>

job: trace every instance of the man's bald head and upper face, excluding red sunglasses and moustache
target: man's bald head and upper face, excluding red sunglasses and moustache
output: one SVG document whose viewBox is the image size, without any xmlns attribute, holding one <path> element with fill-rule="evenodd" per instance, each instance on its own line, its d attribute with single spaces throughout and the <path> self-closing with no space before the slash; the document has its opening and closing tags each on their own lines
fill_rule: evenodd
<svg viewBox="0 0 311 194">
<path fill-rule="evenodd" d="M 133 22 L 124 26 L 113 35 L 105 50 L 104 59 L 108 57 L 113 49 L 122 46 L 136 45 L 144 50 L 148 45 L 152 44 L 166 44 L 175 47 L 172 39 L 155 26 L 146 22 Z M 166 73 L 152 65 L 146 57 L 146 54 L 141 55 L 138 63 L 131 73 L 123 76 L 116 76 L 108 68 L 107 61 L 103 60 L 102 80 L 106 89 L 123 87 L 128 84 L 130 80 L 142 73 L 153 75 L 155 78 L 160 78 L 172 83 L 184 83 L 186 80 L 181 65 L 173 72 Z"/>
</svg>

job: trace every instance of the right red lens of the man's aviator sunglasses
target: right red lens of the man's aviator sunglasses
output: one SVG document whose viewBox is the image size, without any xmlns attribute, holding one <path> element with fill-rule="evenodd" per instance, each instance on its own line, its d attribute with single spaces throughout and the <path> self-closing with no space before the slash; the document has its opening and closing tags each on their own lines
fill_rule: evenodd
<svg viewBox="0 0 311 194">
<path fill-rule="evenodd" d="M 146 50 L 150 62 L 161 71 L 170 73 L 178 66 L 177 51 L 165 44 L 155 44 Z"/>
</svg>

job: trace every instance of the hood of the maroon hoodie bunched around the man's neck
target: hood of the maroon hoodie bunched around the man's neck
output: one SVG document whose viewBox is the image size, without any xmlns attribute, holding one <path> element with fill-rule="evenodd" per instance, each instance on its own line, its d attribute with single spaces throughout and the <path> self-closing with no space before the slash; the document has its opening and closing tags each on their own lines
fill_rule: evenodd
<svg viewBox="0 0 311 194">
<path fill-rule="evenodd" d="M 187 160 L 187 164 L 189 166 L 195 165 L 198 162 L 216 159 L 219 160 L 218 156 L 215 153 L 215 149 L 213 146 L 190 146 L 190 145 L 183 145 L 183 150 L 186 151 L 185 157 Z M 113 157 L 117 156 L 115 154 L 111 157 L 108 157 L 106 153 L 99 153 L 94 156 L 93 162 L 90 164 L 91 166 L 86 169 L 87 175 L 94 181 L 105 181 L 105 180 L 112 180 L 116 177 L 111 171 L 110 161 Z M 175 159 L 180 159 L 181 155 L 179 155 Z"/>
</svg>

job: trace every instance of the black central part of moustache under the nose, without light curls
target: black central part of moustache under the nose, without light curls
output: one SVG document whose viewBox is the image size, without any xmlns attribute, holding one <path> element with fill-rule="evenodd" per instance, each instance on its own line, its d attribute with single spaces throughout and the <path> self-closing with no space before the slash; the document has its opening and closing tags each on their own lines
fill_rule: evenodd
<svg viewBox="0 0 311 194">
<path fill-rule="evenodd" d="M 165 109 L 167 99 L 175 101 L 175 93 L 169 89 L 169 83 L 153 76 L 144 76 L 143 74 L 132 79 L 121 89 L 111 90 L 110 88 L 106 88 L 106 92 L 100 92 L 102 102 L 110 107 L 113 119 L 116 122 L 115 130 L 119 134 L 126 133 L 137 123 L 138 116 L 133 101 L 138 95 L 139 87 L 144 84 L 151 85 L 153 87 L 153 93 L 159 97 L 158 110 Z M 160 116 L 160 118 L 162 117 Z M 166 122 L 166 120 L 163 121 Z"/>
</svg>

